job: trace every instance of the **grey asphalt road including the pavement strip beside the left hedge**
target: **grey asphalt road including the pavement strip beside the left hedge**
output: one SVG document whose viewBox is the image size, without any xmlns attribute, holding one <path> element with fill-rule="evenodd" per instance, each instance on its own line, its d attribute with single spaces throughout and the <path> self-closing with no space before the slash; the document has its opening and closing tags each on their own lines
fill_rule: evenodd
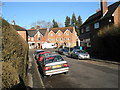
<svg viewBox="0 0 120 90">
<path fill-rule="evenodd" d="M 30 50 L 29 53 L 32 59 L 33 51 Z M 91 60 L 77 60 L 64 55 L 61 56 L 70 66 L 69 73 L 66 75 L 53 75 L 47 78 L 43 78 L 41 73 L 38 73 L 37 64 L 33 59 L 30 70 L 33 77 L 33 88 L 41 88 L 43 86 L 45 88 L 118 88 L 117 65 L 97 63 L 97 61 L 93 62 Z"/>
</svg>

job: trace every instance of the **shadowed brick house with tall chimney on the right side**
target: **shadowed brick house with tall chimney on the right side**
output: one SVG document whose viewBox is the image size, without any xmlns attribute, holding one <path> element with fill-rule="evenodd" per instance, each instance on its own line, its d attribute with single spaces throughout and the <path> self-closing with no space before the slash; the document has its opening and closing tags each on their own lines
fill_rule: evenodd
<svg viewBox="0 0 120 90">
<path fill-rule="evenodd" d="M 107 0 L 101 0 L 100 7 L 80 27 L 79 39 L 81 45 L 85 47 L 95 47 L 97 32 L 103 27 L 120 26 L 120 1 L 107 6 Z"/>
</svg>

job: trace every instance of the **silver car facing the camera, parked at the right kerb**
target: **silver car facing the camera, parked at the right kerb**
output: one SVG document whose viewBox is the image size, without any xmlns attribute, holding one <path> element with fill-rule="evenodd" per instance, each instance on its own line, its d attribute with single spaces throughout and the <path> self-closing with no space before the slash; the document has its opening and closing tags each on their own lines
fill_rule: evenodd
<svg viewBox="0 0 120 90">
<path fill-rule="evenodd" d="M 79 49 L 74 49 L 71 53 L 71 57 L 78 59 L 90 59 L 90 55 L 86 51 Z"/>
</svg>

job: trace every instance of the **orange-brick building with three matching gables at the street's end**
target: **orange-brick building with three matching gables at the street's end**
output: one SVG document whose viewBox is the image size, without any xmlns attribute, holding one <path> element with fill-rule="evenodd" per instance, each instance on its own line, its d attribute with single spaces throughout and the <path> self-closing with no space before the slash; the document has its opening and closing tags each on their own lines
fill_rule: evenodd
<svg viewBox="0 0 120 90">
<path fill-rule="evenodd" d="M 74 27 L 50 28 L 48 41 L 57 47 L 74 47 L 77 45 L 78 37 Z"/>
</svg>

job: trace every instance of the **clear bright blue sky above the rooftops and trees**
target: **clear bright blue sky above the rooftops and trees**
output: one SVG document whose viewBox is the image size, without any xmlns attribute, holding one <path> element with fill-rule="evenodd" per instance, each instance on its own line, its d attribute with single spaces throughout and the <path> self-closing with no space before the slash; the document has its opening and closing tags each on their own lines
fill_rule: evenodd
<svg viewBox="0 0 120 90">
<path fill-rule="evenodd" d="M 2 17 L 9 23 L 15 20 L 17 25 L 26 29 L 31 28 L 31 24 L 38 20 L 52 22 L 55 19 L 64 26 L 66 16 L 72 18 L 75 13 L 84 22 L 98 8 L 100 2 L 4 2 Z"/>
</svg>

